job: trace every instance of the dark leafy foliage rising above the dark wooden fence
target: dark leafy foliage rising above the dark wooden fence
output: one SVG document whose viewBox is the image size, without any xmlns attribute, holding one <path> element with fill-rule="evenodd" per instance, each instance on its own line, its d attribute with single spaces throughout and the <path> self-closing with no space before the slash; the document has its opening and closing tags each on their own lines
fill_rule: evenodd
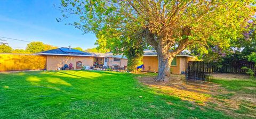
<svg viewBox="0 0 256 119">
<path fill-rule="evenodd" d="M 251 53 L 256 52 L 256 24 L 250 21 L 245 27 L 241 38 L 231 40 L 230 48 L 223 50 L 214 47 L 207 49 L 208 54 L 199 55 L 198 58 L 204 61 L 214 62 L 246 62 Z M 194 52 L 196 53 L 196 52 Z M 196 53 L 200 54 L 200 53 Z"/>
</svg>

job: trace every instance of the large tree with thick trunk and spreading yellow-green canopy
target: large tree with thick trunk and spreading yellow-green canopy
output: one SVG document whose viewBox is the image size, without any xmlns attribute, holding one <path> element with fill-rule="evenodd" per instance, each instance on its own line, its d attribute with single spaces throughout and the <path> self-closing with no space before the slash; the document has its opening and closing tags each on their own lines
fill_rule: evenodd
<svg viewBox="0 0 256 119">
<path fill-rule="evenodd" d="M 185 48 L 209 44 L 228 48 L 252 19 L 254 4 L 254 0 L 62 0 L 60 9 L 64 19 L 78 15 L 80 20 L 71 24 L 84 32 L 107 28 L 130 36 L 143 30 L 144 40 L 158 54 L 156 80 L 162 81 L 170 73 L 173 57 Z"/>
</svg>

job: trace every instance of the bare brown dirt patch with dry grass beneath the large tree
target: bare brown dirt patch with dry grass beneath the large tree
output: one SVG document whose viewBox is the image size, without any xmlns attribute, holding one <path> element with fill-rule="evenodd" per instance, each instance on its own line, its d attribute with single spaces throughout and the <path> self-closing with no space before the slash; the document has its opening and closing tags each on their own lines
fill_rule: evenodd
<svg viewBox="0 0 256 119">
<path fill-rule="evenodd" d="M 232 75 L 232 74 L 214 74 L 214 78 L 239 78 L 248 79 L 247 75 Z M 225 78 L 225 79 L 227 79 Z M 140 82 L 154 88 L 158 93 L 163 93 L 182 100 L 191 101 L 194 104 L 212 107 L 220 111 L 225 111 L 232 116 L 244 116 L 243 114 L 235 113 L 240 107 L 242 101 L 250 101 L 252 105 L 256 104 L 256 97 L 245 94 L 237 94 L 219 84 L 207 81 L 187 81 L 184 75 L 171 75 L 167 82 L 155 82 L 155 77 L 140 77 Z M 254 89 L 253 87 L 249 87 Z M 168 102 L 166 102 L 168 103 Z M 247 116 L 247 115 L 246 115 Z M 250 115 L 255 117 L 256 115 Z"/>
</svg>

